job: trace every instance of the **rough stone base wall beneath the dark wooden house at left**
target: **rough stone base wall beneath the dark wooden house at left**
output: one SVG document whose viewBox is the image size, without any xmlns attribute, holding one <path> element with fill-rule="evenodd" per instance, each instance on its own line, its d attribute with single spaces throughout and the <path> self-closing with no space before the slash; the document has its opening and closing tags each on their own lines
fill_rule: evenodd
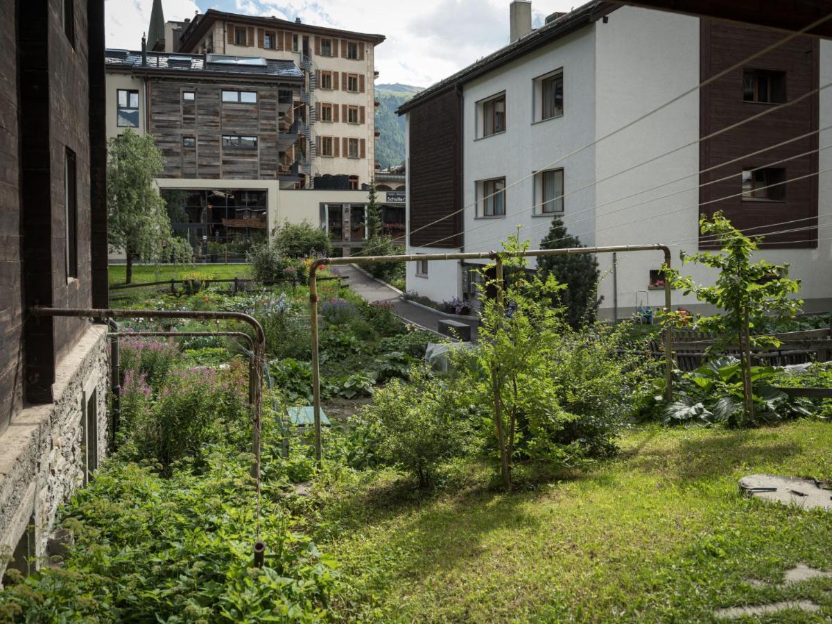
<svg viewBox="0 0 832 624">
<path fill-rule="evenodd" d="M 58 507 L 104 458 L 109 391 L 106 325 L 92 325 L 57 364 L 55 402 L 23 409 L 0 434 L 0 548 L 17 547 L 12 567 L 22 553 L 47 555 Z"/>
</svg>

